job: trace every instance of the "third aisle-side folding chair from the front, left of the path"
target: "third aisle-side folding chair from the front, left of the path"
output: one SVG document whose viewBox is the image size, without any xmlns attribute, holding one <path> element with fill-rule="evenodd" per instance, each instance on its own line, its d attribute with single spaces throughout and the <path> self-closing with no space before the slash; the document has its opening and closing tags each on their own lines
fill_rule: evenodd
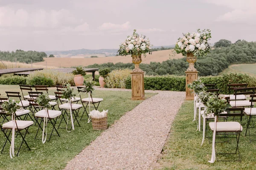
<svg viewBox="0 0 256 170">
<path fill-rule="evenodd" d="M 68 111 L 70 111 L 70 104 L 69 103 L 64 103 L 62 104 L 61 103 L 61 97 L 62 97 L 62 93 L 61 92 L 54 92 L 55 93 L 55 96 L 57 98 L 57 104 L 58 104 L 58 108 L 59 110 L 61 111 L 61 122 L 62 120 L 64 120 L 64 122 L 66 123 L 67 125 L 67 121 L 65 119 L 65 116 L 70 116 L 68 114 Z M 61 105 L 59 105 L 59 102 L 61 103 Z M 73 119 L 73 123 L 75 123 L 75 121 L 77 122 L 78 126 L 80 127 L 80 124 L 79 124 L 79 121 L 78 121 L 78 117 L 79 117 L 79 110 L 80 108 L 82 108 L 83 105 L 79 105 L 79 104 L 75 104 L 75 103 L 71 103 L 71 111 L 72 111 L 72 114 L 75 116 L 75 118 Z M 61 122 L 60 124 L 58 125 L 58 128 L 60 127 L 61 125 Z M 70 127 L 71 129 L 72 127 Z"/>
</svg>

